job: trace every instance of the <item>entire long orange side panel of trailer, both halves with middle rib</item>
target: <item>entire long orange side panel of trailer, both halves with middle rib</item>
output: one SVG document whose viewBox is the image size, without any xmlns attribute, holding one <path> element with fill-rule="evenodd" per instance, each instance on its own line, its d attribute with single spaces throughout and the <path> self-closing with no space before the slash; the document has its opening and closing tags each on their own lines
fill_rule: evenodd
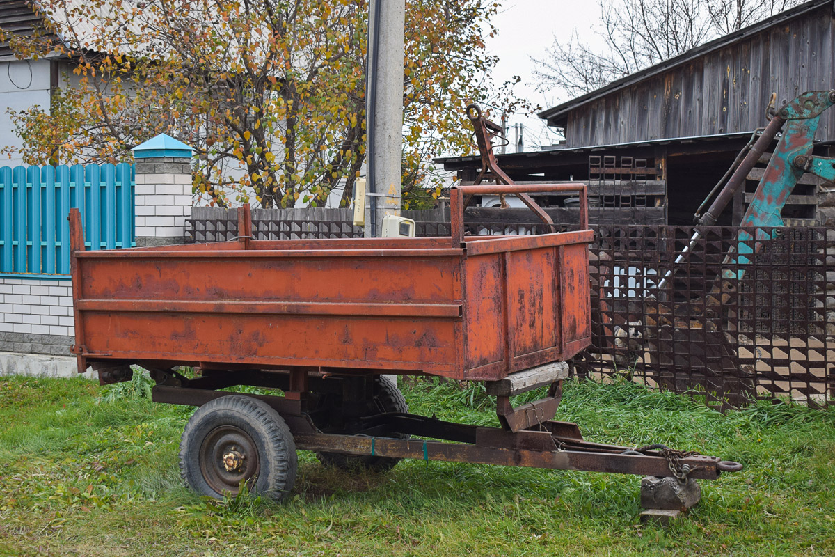
<svg viewBox="0 0 835 557">
<path fill-rule="evenodd" d="M 77 257 L 76 306 L 87 331 L 79 344 L 134 361 L 456 375 L 460 259 L 450 250 L 437 257 L 355 251 Z"/>
</svg>

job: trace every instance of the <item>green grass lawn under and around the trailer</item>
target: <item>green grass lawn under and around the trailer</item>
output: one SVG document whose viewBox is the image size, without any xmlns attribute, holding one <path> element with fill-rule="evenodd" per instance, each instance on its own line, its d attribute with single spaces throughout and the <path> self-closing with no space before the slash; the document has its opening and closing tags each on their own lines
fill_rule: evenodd
<svg viewBox="0 0 835 557">
<path fill-rule="evenodd" d="M 639 478 L 415 461 L 352 475 L 310 453 L 287 504 L 206 501 L 177 469 L 191 409 L 123 388 L 132 397 L 83 379 L 0 377 L 0 554 L 835 554 L 835 409 L 723 415 L 628 382 L 569 382 L 558 418 L 590 440 L 745 464 L 701 482 L 701 504 L 662 529 L 637 524 Z M 415 381 L 404 392 L 414 412 L 496 423 L 478 387 Z"/>
</svg>

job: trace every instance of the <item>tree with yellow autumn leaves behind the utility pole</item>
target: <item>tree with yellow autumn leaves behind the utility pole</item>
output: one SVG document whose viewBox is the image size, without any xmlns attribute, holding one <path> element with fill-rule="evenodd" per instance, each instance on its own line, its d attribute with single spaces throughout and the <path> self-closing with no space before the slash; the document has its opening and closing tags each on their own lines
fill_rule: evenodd
<svg viewBox="0 0 835 557">
<path fill-rule="evenodd" d="M 13 48 L 57 56 L 69 70 L 49 109 L 13 114 L 28 164 L 129 160 L 135 144 L 164 132 L 195 148 L 195 193 L 214 203 L 315 206 L 342 185 L 342 204 L 350 200 L 365 156 L 367 0 L 38 7 L 43 30 L 10 38 Z M 432 185 L 433 156 L 472 150 L 464 99 L 496 102 L 484 45 L 496 9 L 407 1 L 407 203 Z"/>
</svg>

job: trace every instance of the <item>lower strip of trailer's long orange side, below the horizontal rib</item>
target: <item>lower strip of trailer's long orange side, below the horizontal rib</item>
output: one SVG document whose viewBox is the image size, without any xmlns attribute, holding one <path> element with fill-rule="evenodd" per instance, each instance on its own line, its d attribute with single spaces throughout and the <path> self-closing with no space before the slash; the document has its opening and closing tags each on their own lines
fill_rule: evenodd
<svg viewBox="0 0 835 557">
<path fill-rule="evenodd" d="M 89 352 L 171 365 L 350 367 L 455 377 L 460 317 L 83 311 Z"/>
</svg>

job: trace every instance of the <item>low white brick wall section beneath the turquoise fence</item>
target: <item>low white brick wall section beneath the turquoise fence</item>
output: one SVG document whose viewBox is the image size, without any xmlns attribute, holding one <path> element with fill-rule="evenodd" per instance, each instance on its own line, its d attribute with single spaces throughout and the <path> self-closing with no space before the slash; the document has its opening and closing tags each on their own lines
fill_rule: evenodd
<svg viewBox="0 0 835 557">
<path fill-rule="evenodd" d="M 0 332 L 73 336 L 72 282 L 0 278 Z"/>
</svg>

